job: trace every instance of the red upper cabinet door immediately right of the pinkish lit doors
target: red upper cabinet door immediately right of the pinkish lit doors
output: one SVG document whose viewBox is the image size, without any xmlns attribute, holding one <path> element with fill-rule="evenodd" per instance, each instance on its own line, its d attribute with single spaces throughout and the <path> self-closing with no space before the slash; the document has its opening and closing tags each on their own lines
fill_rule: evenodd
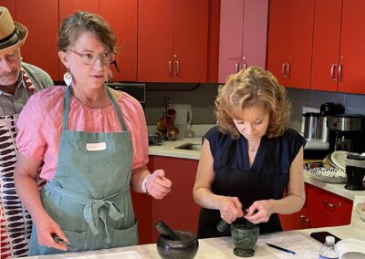
<svg viewBox="0 0 365 259">
<path fill-rule="evenodd" d="M 267 69 L 287 86 L 289 57 L 290 0 L 271 0 L 267 40 Z"/>
</svg>

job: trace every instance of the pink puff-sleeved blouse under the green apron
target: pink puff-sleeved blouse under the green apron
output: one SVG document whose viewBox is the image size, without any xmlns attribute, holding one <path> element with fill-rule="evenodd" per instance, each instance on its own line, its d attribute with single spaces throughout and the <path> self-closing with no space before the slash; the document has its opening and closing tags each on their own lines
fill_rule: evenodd
<svg viewBox="0 0 365 259">
<path fill-rule="evenodd" d="M 18 151 L 33 161 L 44 161 L 40 177 L 47 181 L 52 180 L 56 173 L 65 90 L 65 87 L 52 87 L 33 95 L 27 101 L 16 123 Z M 116 97 L 115 92 L 113 97 Z M 143 109 L 135 98 L 124 92 L 120 94 L 119 98 L 116 98 L 116 102 L 128 130 L 130 130 L 133 145 L 131 169 L 140 168 L 148 162 L 149 149 Z M 72 96 L 68 130 L 122 131 L 117 112 L 112 105 L 106 109 L 89 109 Z"/>
</svg>

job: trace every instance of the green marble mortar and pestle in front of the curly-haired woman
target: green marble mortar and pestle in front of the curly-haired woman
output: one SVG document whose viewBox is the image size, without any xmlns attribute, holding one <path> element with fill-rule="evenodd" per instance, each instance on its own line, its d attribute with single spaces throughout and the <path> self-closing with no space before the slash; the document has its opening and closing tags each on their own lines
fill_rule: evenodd
<svg viewBox="0 0 365 259">
<path fill-rule="evenodd" d="M 219 232 L 224 232 L 228 223 L 222 220 L 217 225 Z M 250 223 L 245 218 L 240 218 L 231 224 L 231 235 L 234 239 L 234 254 L 240 257 L 251 257 L 255 255 L 255 244 L 257 242 L 260 229 L 254 223 Z"/>
</svg>

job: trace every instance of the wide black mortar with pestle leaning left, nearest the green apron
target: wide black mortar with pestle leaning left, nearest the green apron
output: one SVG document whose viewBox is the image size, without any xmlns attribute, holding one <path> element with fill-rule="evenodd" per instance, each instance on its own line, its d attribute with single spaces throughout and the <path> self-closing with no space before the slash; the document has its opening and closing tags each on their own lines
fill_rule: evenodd
<svg viewBox="0 0 365 259">
<path fill-rule="evenodd" d="M 187 231 L 173 231 L 167 224 L 155 224 L 161 233 L 157 239 L 157 252 L 163 259 L 193 259 L 198 253 L 199 242 L 195 234 Z"/>
</svg>

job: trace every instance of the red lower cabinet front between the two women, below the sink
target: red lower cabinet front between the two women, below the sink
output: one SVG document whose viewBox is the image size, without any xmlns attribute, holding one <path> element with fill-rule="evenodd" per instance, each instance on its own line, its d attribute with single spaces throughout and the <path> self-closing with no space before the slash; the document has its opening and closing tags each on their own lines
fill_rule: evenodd
<svg viewBox="0 0 365 259">
<path fill-rule="evenodd" d="M 163 169 L 172 181 L 172 191 L 162 200 L 152 200 L 152 234 L 155 243 L 160 233 L 154 225 L 162 220 L 174 230 L 196 233 L 200 206 L 193 201 L 193 184 L 198 161 L 171 157 L 153 157 L 153 170 Z"/>
</svg>

